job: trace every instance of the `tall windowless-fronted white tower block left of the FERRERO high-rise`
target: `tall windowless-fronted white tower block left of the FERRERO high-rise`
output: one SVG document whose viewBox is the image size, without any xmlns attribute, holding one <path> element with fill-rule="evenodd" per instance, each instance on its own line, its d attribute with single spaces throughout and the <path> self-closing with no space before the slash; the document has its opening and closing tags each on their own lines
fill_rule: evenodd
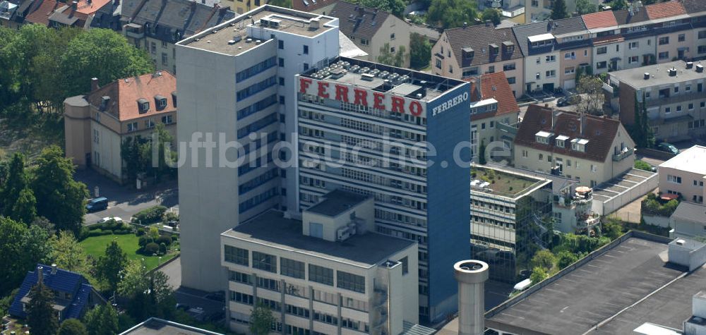
<svg viewBox="0 0 706 335">
<path fill-rule="evenodd" d="M 337 56 L 337 25 L 262 6 L 177 43 L 178 140 L 196 147 L 179 154 L 182 285 L 221 290 L 220 233 L 272 207 L 297 212 L 296 170 L 271 164 L 296 150 L 272 146 L 296 142 L 294 75 Z"/>
</svg>

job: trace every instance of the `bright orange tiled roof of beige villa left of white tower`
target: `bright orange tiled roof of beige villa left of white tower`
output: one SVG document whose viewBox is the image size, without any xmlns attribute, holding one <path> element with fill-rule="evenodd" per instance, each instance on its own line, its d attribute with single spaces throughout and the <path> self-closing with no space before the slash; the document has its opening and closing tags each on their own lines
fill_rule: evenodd
<svg viewBox="0 0 706 335">
<path fill-rule="evenodd" d="M 172 92 L 177 91 L 177 78 L 167 71 L 157 73 L 161 73 L 161 75 L 148 73 L 137 77 L 116 80 L 90 92 L 88 102 L 93 106 L 100 106 L 102 97 L 110 97 L 106 112 L 112 114 L 120 121 L 176 111 L 177 107 L 174 106 Z M 157 110 L 155 104 L 156 95 L 167 98 L 167 106 L 163 109 Z M 140 114 L 137 103 L 140 98 L 147 99 L 150 102 L 150 109 L 147 113 Z"/>
</svg>

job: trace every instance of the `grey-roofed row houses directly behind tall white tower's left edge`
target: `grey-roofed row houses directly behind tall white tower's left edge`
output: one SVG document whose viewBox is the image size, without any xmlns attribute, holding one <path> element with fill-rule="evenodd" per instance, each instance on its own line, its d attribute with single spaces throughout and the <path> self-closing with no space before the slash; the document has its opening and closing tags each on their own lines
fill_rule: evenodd
<svg viewBox="0 0 706 335">
<path fill-rule="evenodd" d="M 174 43 L 235 17 L 213 1 L 125 0 L 121 12 L 128 41 L 147 51 L 157 71 L 172 73 L 177 73 Z"/>
</svg>

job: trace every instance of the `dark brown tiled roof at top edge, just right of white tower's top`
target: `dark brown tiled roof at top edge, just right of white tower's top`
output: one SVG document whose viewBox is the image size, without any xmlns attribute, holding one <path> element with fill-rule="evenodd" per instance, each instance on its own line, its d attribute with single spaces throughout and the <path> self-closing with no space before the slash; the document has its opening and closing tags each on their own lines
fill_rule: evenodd
<svg viewBox="0 0 706 335">
<path fill-rule="evenodd" d="M 380 30 L 390 13 L 339 1 L 328 16 L 338 18 L 339 29 L 347 37 L 371 39 Z M 354 42 L 356 42 L 355 39 Z"/>
</svg>

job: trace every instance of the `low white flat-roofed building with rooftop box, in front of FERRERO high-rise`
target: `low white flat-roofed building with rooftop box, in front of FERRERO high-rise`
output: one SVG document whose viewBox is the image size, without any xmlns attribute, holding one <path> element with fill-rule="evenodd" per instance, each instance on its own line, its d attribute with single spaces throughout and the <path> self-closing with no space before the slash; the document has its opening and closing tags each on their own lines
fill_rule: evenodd
<svg viewBox="0 0 706 335">
<path fill-rule="evenodd" d="M 264 303 L 273 333 L 412 334 L 417 243 L 375 233 L 373 207 L 372 197 L 335 190 L 301 219 L 270 210 L 222 233 L 230 329 L 248 332 L 253 305 Z"/>
</svg>

